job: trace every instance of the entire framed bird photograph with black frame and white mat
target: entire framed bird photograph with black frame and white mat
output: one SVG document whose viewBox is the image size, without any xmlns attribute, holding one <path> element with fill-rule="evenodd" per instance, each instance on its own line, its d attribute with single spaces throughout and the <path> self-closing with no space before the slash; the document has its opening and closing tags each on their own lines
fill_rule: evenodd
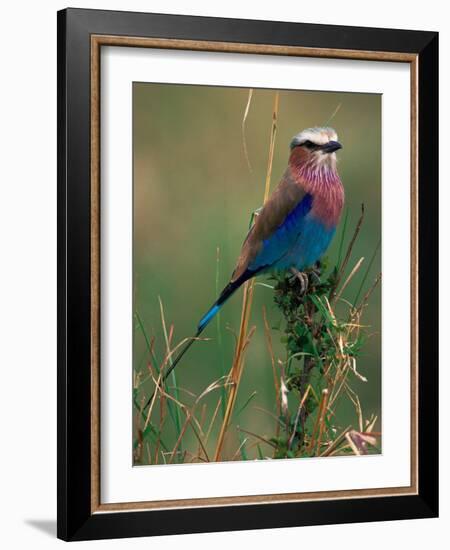
<svg viewBox="0 0 450 550">
<path fill-rule="evenodd" d="M 60 538 L 438 514 L 437 94 L 434 32 L 58 13 Z"/>
</svg>

